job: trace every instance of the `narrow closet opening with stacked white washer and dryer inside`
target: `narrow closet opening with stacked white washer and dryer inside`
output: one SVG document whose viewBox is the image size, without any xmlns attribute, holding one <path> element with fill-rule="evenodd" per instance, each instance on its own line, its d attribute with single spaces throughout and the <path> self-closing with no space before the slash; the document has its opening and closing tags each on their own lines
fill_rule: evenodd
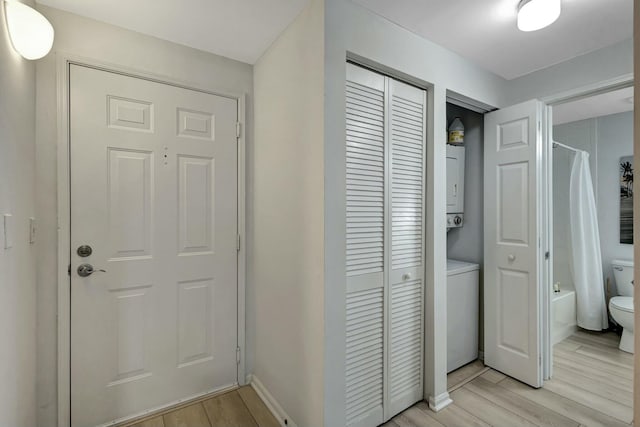
<svg viewBox="0 0 640 427">
<path fill-rule="evenodd" d="M 449 101 L 456 102 L 451 98 Z M 446 122 L 449 392 L 485 369 L 482 363 L 484 115 L 459 104 L 447 102 Z"/>
</svg>

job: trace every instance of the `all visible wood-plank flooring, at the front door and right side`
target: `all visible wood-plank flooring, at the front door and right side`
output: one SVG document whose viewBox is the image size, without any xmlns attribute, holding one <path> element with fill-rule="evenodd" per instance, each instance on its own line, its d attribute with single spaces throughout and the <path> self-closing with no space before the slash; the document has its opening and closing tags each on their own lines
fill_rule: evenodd
<svg viewBox="0 0 640 427">
<path fill-rule="evenodd" d="M 554 347 L 553 379 L 533 389 L 476 361 L 448 376 L 454 403 L 432 412 L 425 402 L 386 427 L 628 427 L 633 355 L 613 333 L 578 332 Z M 128 427 L 278 427 L 251 387 L 147 418 Z"/>
</svg>

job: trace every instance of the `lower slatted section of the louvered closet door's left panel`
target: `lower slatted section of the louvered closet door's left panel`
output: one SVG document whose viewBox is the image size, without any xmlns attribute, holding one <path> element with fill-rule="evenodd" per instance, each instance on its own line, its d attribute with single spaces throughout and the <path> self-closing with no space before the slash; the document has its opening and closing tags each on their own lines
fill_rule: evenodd
<svg viewBox="0 0 640 427">
<path fill-rule="evenodd" d="M 383 298 L 382 288 L 347 295 L 347 425 L 382 413 Z"/>
</svg>

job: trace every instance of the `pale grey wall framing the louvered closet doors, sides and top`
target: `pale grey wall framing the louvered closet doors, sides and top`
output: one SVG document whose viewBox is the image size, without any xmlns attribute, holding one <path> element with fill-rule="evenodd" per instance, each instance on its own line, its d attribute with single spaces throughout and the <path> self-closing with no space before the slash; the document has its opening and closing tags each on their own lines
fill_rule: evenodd
<svg viewBox="0 0 640 427">
<path fill-rule="evenodd" d="M 505 100 L 506 82 L 432 42 L 347 0 L 326 1 L 325 26 L 325 425 L 344 422 L 345 353 L 345 61 L 428 90 L 425 396 L 446 402 L 446 91 L 489 105 Z"/>
</svg>

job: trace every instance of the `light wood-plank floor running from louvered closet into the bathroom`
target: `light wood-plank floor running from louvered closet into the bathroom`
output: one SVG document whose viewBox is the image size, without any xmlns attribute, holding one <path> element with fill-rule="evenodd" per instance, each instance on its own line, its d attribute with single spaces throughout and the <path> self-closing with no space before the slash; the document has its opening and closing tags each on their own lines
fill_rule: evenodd
<svg viewBox="0 0 640 427">
<path fill-rule="evenodd" d="M 628 427 L 633 355 L 614 333 L 577 332 L 553 349 L 553 378 L 534 389 L 473 362 L 449 374 L 453 404 L 421 402 L 386 427 Z"/>
</svg>

